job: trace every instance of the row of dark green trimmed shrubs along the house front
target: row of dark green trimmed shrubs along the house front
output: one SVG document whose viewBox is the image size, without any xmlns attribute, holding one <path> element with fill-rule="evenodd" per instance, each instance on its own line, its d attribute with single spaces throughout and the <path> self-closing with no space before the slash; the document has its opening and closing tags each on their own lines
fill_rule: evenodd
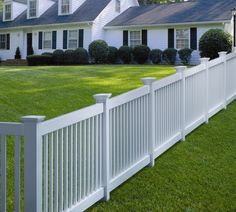
<svg viewBox="0 0 236 212">
<path fill-rule="evenodd" d="M 150 50 L 145 45 L 134 48 L 122 46 L 119 49 L 108 46 L 103 40 L 96 40 L 89 45 L 89 52 L 86 49 L 78 48 L 76 50 L 55 50 L 53 53 L 43 53 L 42 55 L 31 55 L 27 57 L 28 64 L 36 65 L 83 65 L 89 63 L 95 64 L 114 64 L 123 62 L 129 64 L 136 61 L 138 64 L 144 64 L 152 61 L 153 64 L 172 64 L 176 62 L 177 53 L 183 64 L 189 64 L 192 54 L 191 49 L 159 49 Z"/>
</svg>

